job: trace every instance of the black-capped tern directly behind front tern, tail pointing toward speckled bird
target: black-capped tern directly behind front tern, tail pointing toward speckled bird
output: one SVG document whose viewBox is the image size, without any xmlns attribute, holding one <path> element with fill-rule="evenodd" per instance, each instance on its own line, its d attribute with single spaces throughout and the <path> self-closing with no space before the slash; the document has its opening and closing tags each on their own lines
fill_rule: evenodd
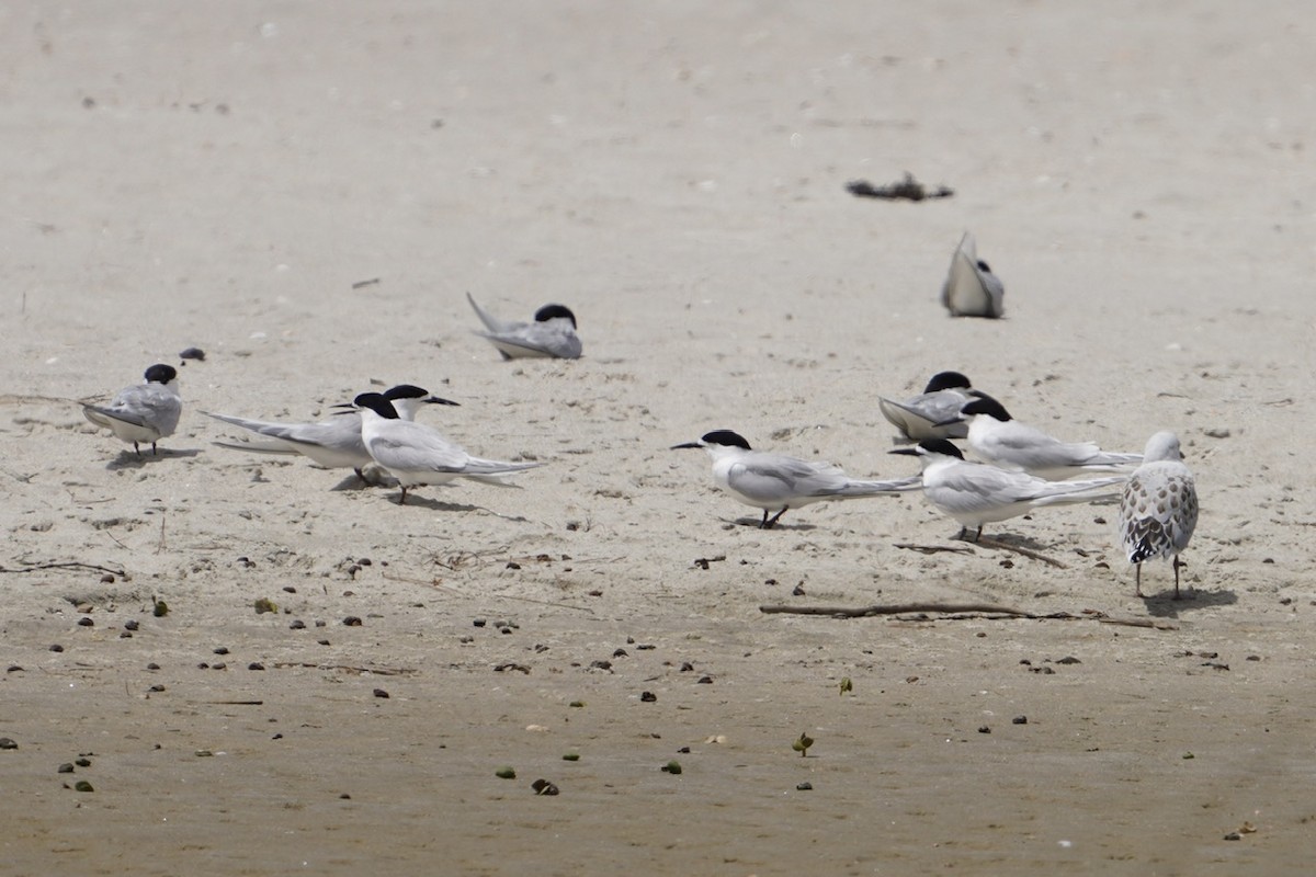
<svg viewBox="0 0 1316 877">
<path fill-rule="evenodd" d="M 1141 454 L 1103 451 L 1094 442 L 1062 442 L 1025 426 L 986 393 L 959 409 L 957 419 L 962 418 L 970 419 L 969 447 L 983 460 L 1051 481 L 1092 472 L 1126 471 L 1142 462 Z"/>
</svg>

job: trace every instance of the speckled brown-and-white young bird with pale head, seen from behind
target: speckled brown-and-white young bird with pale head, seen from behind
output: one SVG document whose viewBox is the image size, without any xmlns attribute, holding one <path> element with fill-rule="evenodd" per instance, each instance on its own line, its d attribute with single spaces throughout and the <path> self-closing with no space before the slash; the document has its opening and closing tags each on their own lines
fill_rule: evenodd
<svg viewBox="0 0 1316 877">
<path fill-rule="evenodd" d="M 1134 568 L 1134 590 L 1142 596 L 1142 561 L 1170 557 L 1174 598 L 1179 598 L 1179 552 L 1198 526 L 1198 486 L 1183 464 L 1179 437 L 1157 433 L 1142 452 L 1120 498 L 1120 544 Z"/>
</svg>

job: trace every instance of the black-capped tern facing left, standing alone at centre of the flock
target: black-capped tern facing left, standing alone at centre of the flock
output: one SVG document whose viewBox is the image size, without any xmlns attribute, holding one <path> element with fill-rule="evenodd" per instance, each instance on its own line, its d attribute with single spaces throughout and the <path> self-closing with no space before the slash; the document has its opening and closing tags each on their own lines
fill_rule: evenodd
<svg viewBox="0 0 1316 877">
<path fill-rule="evenodd" d="M 894 481 L 859 481 L 841 467 L 815 463 L 784 454 L 754 451 L 730 430 L 707 433 L 697 442 L 674 444 L 672 450 L 701 447 L 713 458 L 713 481 L 745 505 L 763 510 L 759 527 L 769 530 L 790 509 L 822 500 L 857 500 L 919 489 L 919 477 Z M 771 518 L 769 513 L 775 511 Z"/>
</svg>

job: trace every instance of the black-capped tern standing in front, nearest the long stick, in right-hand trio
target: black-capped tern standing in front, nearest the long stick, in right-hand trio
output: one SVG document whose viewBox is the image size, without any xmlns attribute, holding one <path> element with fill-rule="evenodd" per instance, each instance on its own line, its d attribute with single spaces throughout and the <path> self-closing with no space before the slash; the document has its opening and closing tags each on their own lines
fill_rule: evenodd
<svg viewBox="0 0 1316 877">
<path fill-rule="evenodd" d="M 1124 476 L 1088 481 L 1048 481 L 1026 472 L 1008 472 L 986 463 L 965 460 L 959 448 L 946 439 L 925 439 L 915 447 L 891 454 L 917 456 L 923 464 L 923 493 L 938 510 L 959 522 L 961 539 L 983 525 L 1008 521 L 1048 505 L 1092 502 L 1120 494 Z"/>
</svg>

